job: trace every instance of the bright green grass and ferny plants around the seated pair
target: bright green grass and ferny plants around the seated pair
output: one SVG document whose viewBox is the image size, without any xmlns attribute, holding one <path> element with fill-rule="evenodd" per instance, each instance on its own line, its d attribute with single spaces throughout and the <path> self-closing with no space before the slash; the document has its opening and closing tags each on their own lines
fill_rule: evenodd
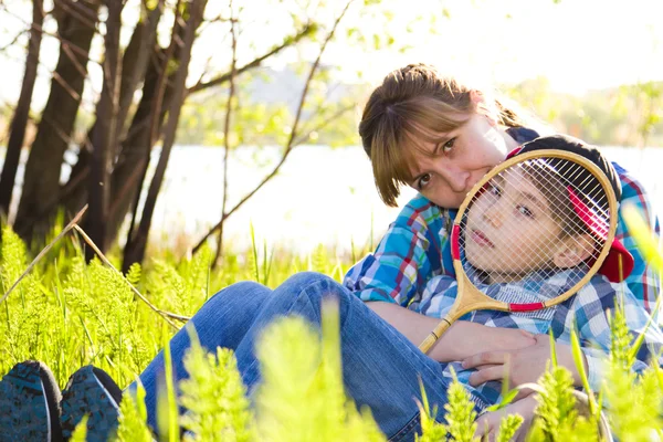
<svg viewBox="0 0 663 442">
<path fill-rule="evenodd" d="M 656 239 L 642 231 L 638 221 L 633 217 L 630 222 L 640 229 L 638 240 L 644 242 L 648 260 L 657 265 L 662 262 L 661 251 L 652 246 Z M 160 253 L 150 257 L 145 267 L 134 265 L 127 275 L 122 275 L 113 267 L 118 265 L 114 255 L 106 262 L 85 263 L 83 246 L 86 245 L 81 232 L 64 235 L 21 278 L 31 255 L 11 229 L 3 229 L 2 293 L 19 283 L 0 304 L 0 375 L 18 361 L 40 359 L 52 368 L 62 387 L 77 368 L 94 364 L 124 388 L 183 324 L 168 312 L 190 316 L 213 293 L 243 280 L 274 287 L 290 275 L 309 270 L 340 281 L 352 263 L 350 257 L 337 257 L 324 248 L 307 257 L 297 257 L 254 246 L 244 254 L 227 254 L 223 263 L 211 270 L 212 253 L 203 248 L 181 261 Z M 539 379 L 538 418 L 528 440 L 597 440 L 599 412 L 606 408 L 620 441 L 649 441 L 661 434 L 663 370 L 654 365 L 640 377 L 631 372 L 633 344 L 624 339 L 628 330 L 621 312 L 613 315 L 609 369 L 601 391 L 591 394 L 589 415 L 576 410 L 569 372 L 552 365 Z M 334 305 L 325 308 L 322 337 L 296 318 L 273 324 L 265 336 L 259 346 L 264 383 L 254 398 L 255 407 L 249 407 L 232 351 L 218 349 L 207 354 L 193 346 L 186 359 L 191 377 L 179 386 L 187 412 L 178 417 L 172 404 L 166 403 L 159 424 L 165 429 L 162 433 L 169 434 L 170 440 L 178 439 L 175 432 L 182 425 L 190 430 L 183 436 L 190 441 L 386 440 L 370 410 L 358 410 L 344 392 L 338 313 Z M 171 394 L 173 389 L 170 386 Z M 449 398 L 450 403 L 442 411 L 446 423 L 442 424 L 435 419 L 435 404 L 429 404 L 422 390 L 420 441 L 448 436 L 478 440 L 474 436 L 475 413 L 465 389 L 454 382 Z M 122 410 L 116 440 L 149 440 L 140 393 L 136 400 L 123 400 Z M 520 422 L 519 417 L 505 417 L 498 440 L 509 440 Z M 85 428 L 81 425 L 76 440 L 84 438 Z"/>
</svg>

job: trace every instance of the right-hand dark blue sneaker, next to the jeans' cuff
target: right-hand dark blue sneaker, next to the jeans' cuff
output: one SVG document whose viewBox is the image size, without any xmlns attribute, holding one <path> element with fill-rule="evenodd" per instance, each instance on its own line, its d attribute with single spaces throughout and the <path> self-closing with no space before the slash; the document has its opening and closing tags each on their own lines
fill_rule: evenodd
<svg viewBox="0 0 663 442">
<path fill-rule="evenodd" d="M 101 368 L 85 366 L 72 375 L 62 391 L 61 422 L 65 439 L 71 438 L 85 414 L 87 442 L 106 442 L 117 429 L 122 390 Z"/>
</svg>

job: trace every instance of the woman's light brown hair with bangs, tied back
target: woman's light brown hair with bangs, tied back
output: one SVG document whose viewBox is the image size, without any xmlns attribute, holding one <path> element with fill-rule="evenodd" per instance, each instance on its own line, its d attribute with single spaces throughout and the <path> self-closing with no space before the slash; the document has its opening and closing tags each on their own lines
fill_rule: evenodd
<svg viewBox="0 0 663 442">
<path fill-rule="evenodd" d="M 459 128 L 473 113 L 490 114 L 507 127 L 523 126 L 516 112 L 497 99 L 476 106 L 472 91 L 476 90 L 420 63 L 389 73 L 372 92 L 364 107 L 359 136 L 387 206 L 396 207 L 400 186 L 412 180 L 413 151 L 425 152 L 417 140 L 440 143 L 440 134 Z"/>
</svg>

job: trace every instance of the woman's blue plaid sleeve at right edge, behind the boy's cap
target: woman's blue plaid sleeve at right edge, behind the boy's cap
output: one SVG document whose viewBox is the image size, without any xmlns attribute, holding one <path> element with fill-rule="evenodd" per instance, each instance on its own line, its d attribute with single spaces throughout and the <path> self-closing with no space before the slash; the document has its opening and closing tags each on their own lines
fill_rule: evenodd
<svg viewBox="0 0 663 442">
<path fill-rule="evenodd" d="M 661 290 L 661 276 L 640 253 L 635 240 L 624 222 L 622 208 L 625 206 L 634 206 L 638 208 L 644 220 L 648 222 L 649 228 L 657 235 L 660 234 L 659 218 L 642 183 L 617 162 L 613 162 L 612 165 L 619 175 L 622 186 L 622 198 L 618 213 L 619 218 L 615 236 L 633 255 L 634 260 L 633 271 L 627 277 L 627 283 L 638 303 L 642 305 L 648 313 L 655 314 L 652 309 L 656 304 L 656 297 Z"/>
</svg>

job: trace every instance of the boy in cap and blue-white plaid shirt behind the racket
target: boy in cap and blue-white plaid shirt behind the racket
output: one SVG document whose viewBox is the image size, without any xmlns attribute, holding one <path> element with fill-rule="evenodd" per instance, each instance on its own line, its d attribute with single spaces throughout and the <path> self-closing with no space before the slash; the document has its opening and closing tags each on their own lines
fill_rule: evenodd
<svg viewBox="0 0 663 442">
<path fill-rule="evenodd" d="M 617 200 L 620 200 L 617 172 L 598 149 L 556 136 L 527 143 L 511 156 L 538 149 L 562 149 L 590 159 L 608 177 Z M 534 303 L 568 291 L 587 273 L 591 260 L 596 259 L 597 245 L 606 240 L 607 220 L 601 215 L 607 213 L 606 200 L 588 201 L 581 197 L 583 192 L 568 190 L 596 189 L 599 185 L 596 178 L 587 171 L 566 173 L 560 170 L 560 161 L 548 166 L 551 167 L 547 168 L 545 180 L 533 179 L 541 175 L 526 167 L 507 178 L 505 175 L 495 177 L 467 210 L 462 242 L 464 266 L 475 285 L 498 301 Z M 534 253 L 539 249 L 547 252 Z M 573 253 L 570 253 L 571 249 Z M 534 334 L 551 332 L 556 340 L 567 344 L 576 328 L 591 368 L 588 370 L 590 386 L 598 390 L 601 379 L 599 359 L 610 349 L 608 312 L 614 311 L 619 298 L 629 329 L 634 335 L 643 332 L 649 319 L 622 283 L 632 266 L 633 257 L 613 240 L 599 273 L 561 304 L 528 313 L 478 311 L 461 319 Z M 455 301 L 456 291 L 454 277 L 433 277 L 409 308 L 428 316 L 444 317 Z M 660 329 L 649 327 L 633 369 L 642 371 L 651 354 L 659 354 L 662 344 Z M 465 369 L 461 362 L 451 362 L 445 368 L 450 377 L 452 367 L 459 380 L 469 385 L 475 370 Z M 476 388 L 492 403 L 502 400 L 498 381 Z"/>
</svg>

